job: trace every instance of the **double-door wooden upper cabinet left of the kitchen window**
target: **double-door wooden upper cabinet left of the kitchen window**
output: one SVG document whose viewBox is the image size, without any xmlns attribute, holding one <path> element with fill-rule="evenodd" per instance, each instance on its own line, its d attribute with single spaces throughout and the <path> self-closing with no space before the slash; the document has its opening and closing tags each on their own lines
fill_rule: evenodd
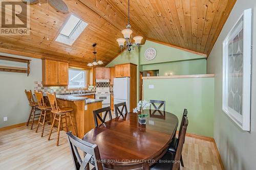
<svg viewBox="0 0 256 170">
<path fill-rule="evenodd" d="M 69 64 L 60 61 L 42 60 L 42 84 L 68 85 L 69 84 Z"/>
</svg>

